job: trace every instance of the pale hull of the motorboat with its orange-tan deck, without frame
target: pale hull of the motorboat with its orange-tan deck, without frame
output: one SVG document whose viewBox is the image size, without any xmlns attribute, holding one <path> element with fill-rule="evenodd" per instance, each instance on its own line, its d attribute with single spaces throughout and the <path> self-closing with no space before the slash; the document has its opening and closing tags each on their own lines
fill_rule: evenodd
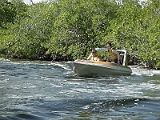
<svg viewBox="0 0 160 120">
<path fill-rule="evenodd" d="M 132 73 L 129 67 L 110 62 L 79 60 L 68 62 L 68 66 L 70 66 L 78 76 L 131 75 Z"/>
</svg>

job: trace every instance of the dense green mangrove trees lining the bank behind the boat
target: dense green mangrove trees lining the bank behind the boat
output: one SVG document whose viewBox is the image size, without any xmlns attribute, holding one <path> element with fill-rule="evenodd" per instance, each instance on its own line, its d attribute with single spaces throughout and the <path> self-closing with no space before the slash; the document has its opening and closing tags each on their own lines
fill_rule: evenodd
<svg viewBox="0 0 160 120">
<path fill-rule="evenodd" d="M 73 60 L 111 41 L 130 62 L 160 68 L 160 3 L 57 0 L 26 5 L 0 0 L 0 56 Z"/>
</svg>

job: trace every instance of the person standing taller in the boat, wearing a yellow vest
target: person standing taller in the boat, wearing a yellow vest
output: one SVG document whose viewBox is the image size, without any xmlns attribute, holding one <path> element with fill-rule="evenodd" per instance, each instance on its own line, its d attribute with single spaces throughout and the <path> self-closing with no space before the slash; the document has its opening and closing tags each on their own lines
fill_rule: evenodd
<svg viewBox="0 0 160 120">
<path fill-rule="evenodd" d="M 120 55 L 119 53 L 112 47 L 111 43 L 107 43 L 106 44 L 107 47 L 107 53 L 108 53 L 108 58 L 107 61 L 108 62 L 115 62 L 120 64 Z"/>
</svg>

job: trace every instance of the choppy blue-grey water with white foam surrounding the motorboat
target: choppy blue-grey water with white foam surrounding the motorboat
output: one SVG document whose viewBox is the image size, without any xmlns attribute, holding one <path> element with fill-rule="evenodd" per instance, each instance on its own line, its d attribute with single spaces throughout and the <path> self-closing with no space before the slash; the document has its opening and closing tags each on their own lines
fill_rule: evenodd
<svg viewBox="0 0 160 120">
<path fill-rule="evenodd" d="M 0 60 L 0 120 L 160 120 L 160 71 L 80 78 L 64 63 Z"/>
</svg>

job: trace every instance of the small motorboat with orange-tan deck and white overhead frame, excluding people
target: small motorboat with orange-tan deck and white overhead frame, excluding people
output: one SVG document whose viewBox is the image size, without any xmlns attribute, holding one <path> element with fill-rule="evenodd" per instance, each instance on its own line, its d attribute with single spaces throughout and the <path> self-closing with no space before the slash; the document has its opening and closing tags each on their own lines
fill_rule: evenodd
<svg viewBox="0 0 160 120">
<path fill-rule="evenodd" d="M 107 48 L 95 48 L 100 55 L 105 55 Z M 106 60 L 94 61 L 90 60 L 92 53 L 87 59 L 68 61 L 66 64 L 74 71 L 78 76 L 108 76 L 108 75 L 131 75 L 132 70 L 127 66 L 127 51 L 116 50 L 120 55 L 120 64 L 114 62 L 108 62 Z M 106 57 L 104 57 L 106 58 Z"/>
</svg>

